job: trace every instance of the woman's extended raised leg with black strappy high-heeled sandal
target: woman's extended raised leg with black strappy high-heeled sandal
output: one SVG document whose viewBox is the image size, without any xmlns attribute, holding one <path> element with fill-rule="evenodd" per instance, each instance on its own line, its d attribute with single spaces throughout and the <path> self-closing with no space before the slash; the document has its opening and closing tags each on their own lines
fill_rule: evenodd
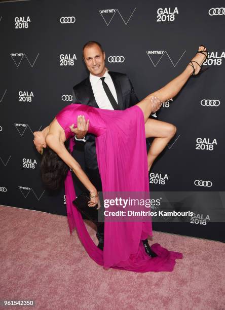
<svg viewBox="0 0 225 310">
<path fill-rule="evenodd" d="M 200 46 L 200 48 L 198 49 L 198 51 L 205 51 L 205 50 L 206 48 L 204 48 L 203 46 Z M 203 54 L 198 53 L 192 60 L 197 61 L 201 65 L 205 60 L 205 56 Z M 194 67 L 195 67 L 196 74 L 197 74 L 198 71 L 200 70 L 200 66 L 194 62 Z M 184 86 L 184 84 L 187 82 L 187 80 L 190 78 L 192 73 L 193 73 L 193 68 L 187 65 L 184 71 L 181 74 L 179 74 L 175 79 L 173 79 L 171 82 L 166 84 L 160 90 L 152 94 L 149 94 L 139 103 L 137 103 L 137 105 L 143 111 L 145 122 L 149 118 L 149 115 L 152 113 L 151 97 L 155 96 L 159 98 L 161 102 L 165 102 L 166 100 L 173 98 L 179 93 L 179 91 Z"/>
</svg>

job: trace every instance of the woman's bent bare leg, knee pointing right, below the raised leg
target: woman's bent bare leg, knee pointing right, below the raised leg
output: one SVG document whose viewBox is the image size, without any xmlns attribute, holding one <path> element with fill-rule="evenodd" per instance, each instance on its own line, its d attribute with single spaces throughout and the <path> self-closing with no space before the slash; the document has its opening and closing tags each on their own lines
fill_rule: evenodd
<svg viewBox="0 0 225 310">
<path fill-rule="evenodd" d="M 147 164 L 150 171 L 153 162 L 176 133 L 176 127 L 170 123 L 148 119 L 145 123 L 146 138 L 155 137 L 148 153 Z"/>
</svg>

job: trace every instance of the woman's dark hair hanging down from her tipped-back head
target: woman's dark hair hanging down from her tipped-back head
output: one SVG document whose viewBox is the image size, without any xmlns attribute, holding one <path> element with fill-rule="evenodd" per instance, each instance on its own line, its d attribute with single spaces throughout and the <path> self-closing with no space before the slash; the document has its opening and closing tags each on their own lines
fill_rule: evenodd
<svg viewBox="0 0 225 310">
<path fill-rule="evenodd" d="M 43 149 L 41 176 L 46 188 L 58 189 L 64 182 L 69 167 L 50 147 Z"/>
</svg>

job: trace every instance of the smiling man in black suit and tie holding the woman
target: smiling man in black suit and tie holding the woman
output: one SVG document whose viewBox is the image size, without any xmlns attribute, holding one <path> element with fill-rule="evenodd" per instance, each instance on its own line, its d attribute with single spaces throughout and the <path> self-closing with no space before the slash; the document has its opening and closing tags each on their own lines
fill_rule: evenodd
<svg viewBox="0 0 225 310">
<path fill-rule="evenodd" d="M 90 41 L 83 47 L 83 58 L 90 72 L 87 79 L 73 87 L 72 103 L 86 104 L 96 108 L 124 110 L 139 100 L 134 88 L 124 73 L 108 71 L 105 67 L 105 52 L 98 42 Z M 155 99 L 155 104 L 161 104 Z M 86 121 L 78 120 L 74 130 L 75 139 L 85 143 L 85 170 L 98 191 L 102 191 L 98 170 L 95 136 L 87 134 Z M 103 250 L 104 223 L 97 227 L 98 247 Z M 147 239 L 143 241 L 145 251 L 149 256 L 156 256 L 151 251 Z"/>
</svg>

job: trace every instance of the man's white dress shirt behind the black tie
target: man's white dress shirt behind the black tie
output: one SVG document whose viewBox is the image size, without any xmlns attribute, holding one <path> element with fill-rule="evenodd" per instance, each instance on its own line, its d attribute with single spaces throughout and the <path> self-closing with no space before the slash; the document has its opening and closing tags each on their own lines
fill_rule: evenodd
<svg viewBox="0 0 225 310">
<path fill-rule="evenodd" d="M 105 78 L 104 81 L 107 84 L 110 92 L 113 94 L 118 104 L 117 92 L 114 86 L 114 82 L 111 79 L 111 76 L 108 74 L 107 69 L 105 70 L 105 73 L 102 76 L 104 76 Z M 97 105 L 99 106 L 100 109 L 114 110 L 102 86 L 102 82 L 100 80 L 102 76 L 99 77 L 99 76 L 96 76 L 90 73 L 90 82 L 91 82 L 91 87 L 94 93 L 95 101 L 97 102 Z M 85 137 L 83 139 L 78 139 L 76 135 L 74 137 L 78 141 L 86 142 Z"/>
</svg>

